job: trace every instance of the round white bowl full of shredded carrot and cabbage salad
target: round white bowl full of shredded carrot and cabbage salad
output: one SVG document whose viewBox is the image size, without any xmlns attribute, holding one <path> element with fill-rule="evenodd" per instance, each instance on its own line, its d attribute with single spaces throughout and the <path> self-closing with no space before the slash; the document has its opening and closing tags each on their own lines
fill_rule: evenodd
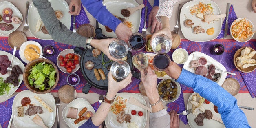
<svg viewBox="0 0 256 128">
<path fill-rule="evenodd" d="M 230 33 L 236 41 L 247 42 L 255 33 L 254 25 L 246 18 L 238 18 L 231 24 Z"/>
</svg>

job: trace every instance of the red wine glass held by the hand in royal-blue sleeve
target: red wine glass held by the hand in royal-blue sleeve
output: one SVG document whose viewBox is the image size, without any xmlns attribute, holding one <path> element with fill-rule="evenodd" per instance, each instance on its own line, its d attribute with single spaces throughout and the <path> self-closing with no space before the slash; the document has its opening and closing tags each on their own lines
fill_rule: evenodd
<svg viewBox="0 0 256 128">
<path fill-rule="evenodd" d="M 129 43 L 133 49 L 140 50 L 145 46 L 146 41 L 140 35 L 132 35 L 132 37 L 130 37 Z"/>
</svg>

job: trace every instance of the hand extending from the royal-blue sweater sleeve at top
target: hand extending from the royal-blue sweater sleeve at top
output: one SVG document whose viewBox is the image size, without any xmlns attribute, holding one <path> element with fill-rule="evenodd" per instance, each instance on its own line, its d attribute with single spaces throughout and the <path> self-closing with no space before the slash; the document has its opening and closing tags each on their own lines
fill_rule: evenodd
<svg viewBox="0 0 256 128">
<path fill-rule="evenodd" d="M 115 30 L 115 34 L 117 35 L 118 39 L 124 40 L 126 43 L 128 43 L 128 40 L 132 35 L 132 31 L 128 28 L 128 26 L 120 23 Z"/>
</svg>

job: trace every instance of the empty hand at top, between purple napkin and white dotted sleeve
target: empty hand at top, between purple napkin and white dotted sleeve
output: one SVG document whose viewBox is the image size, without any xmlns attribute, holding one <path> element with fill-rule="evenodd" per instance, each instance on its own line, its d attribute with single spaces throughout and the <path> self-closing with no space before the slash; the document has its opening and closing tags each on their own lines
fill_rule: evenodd
<svg viewBox="0 0 256 128">
<path fill-rule="evenodd" d="M 158 22 L 156 18 L 158 9 L 158 6 L 154 6 L 148 15 L 148 27 L 151 26 L 150 33 L 154 33 L 154 31 L 156 32 L 159 29 L 162 29 L 162 23 Z"/>
</svg>

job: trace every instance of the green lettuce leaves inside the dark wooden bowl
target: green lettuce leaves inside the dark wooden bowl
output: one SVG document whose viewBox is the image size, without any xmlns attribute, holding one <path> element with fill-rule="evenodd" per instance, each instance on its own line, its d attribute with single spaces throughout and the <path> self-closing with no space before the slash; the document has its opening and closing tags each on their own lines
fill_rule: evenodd
<svg viewBox="0 0 256 128">
<path fill-rule="evenodd" d="M 51 64 L 46 64 L 45 62 L 35 64 L 29 72 L 29 84 L 39 88 L 39 90 L 48 90 L 55 84 L 56 70 Z"/>
</svg>

